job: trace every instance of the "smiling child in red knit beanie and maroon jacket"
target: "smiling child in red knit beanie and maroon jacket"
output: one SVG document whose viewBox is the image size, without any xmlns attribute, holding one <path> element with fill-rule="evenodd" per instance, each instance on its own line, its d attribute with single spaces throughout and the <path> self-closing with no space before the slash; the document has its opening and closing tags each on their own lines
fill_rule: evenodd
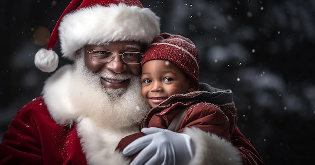
<svg viewBox="0 0 315 165">
<path fill-rule="evenodd" d="M 194 43 L 183 36 L 162 33 L 149 45 L 142 61 L 141 94 L 152 109 L 141 122 L 140 130 L 157 127 L 185 133 L 185 129 L 195 127 L 231 141 L 237 122 L 231 91 L 202 83 L 207 91 L 200 91 L 198 64 Z M 122 151 L 144 135 L 123 138 L 117 149 Z"/>
</svg>

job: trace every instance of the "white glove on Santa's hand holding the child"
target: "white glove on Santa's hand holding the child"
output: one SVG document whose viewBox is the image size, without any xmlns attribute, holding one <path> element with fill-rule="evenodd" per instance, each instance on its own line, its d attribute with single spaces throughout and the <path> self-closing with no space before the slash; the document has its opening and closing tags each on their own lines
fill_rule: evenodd
<svg viewBox="0 0 315 165">
<path fill-rule="evenodd" d="M 195 155 L 193 140 L 186 134 L 156 127 L 143 128 L 146 136 L 136 139 L 124 150 L 125 156 L 143 149 L 131 165 L 148 164 L 188 164 Z"/>
</svg>

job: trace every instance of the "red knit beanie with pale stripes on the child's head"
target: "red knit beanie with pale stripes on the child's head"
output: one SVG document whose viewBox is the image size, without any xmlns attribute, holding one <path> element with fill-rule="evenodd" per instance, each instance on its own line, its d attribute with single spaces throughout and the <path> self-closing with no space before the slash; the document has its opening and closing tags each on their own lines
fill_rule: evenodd
<svg viewBox="0 0 315 165">
<path fill-rule="evenodd" d="M 168 60 L 179 67 L 199 88 L 199 55 L 195 44 L 180 35 L 162 33 L 144 52 L 142 66 L 150 60 Z"/>
</svg>

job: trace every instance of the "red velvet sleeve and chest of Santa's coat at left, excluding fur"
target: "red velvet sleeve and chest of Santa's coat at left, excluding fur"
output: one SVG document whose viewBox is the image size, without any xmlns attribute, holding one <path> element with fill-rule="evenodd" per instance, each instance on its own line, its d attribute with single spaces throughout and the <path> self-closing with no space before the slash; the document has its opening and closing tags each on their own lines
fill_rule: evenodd
<svg viewBox="0 0 315 165">
<path fill-rule="evenodd" d="M 76 125 L 56 124 L 42 97 L 16 114 L 0 145 L 1 164 L 87 164 Z"/>
</svg>

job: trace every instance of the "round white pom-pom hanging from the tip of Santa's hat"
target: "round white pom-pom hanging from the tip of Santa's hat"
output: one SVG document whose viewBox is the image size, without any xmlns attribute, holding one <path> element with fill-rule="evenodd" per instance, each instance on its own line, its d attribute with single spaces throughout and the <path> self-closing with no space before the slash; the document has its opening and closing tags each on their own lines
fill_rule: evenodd
<svg viewBox="0 0 315 165">
<path fill-rule="evenodd" d="M 43 72 L 55 71 L 58 67 L 58 62 L 59 57 L 52 50 L 47 50 L 43 48 L 35 54 L 35 66 Z"/>
</svg>

